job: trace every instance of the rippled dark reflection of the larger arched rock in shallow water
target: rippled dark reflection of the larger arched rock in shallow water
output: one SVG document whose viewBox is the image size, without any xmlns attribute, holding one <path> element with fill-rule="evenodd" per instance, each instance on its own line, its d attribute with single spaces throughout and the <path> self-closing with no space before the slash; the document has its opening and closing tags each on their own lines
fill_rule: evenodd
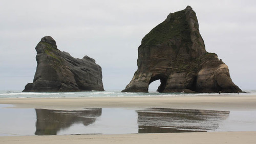
<svg viewBox="0 0 256 144">
<path fill-rule="evenodd" d="M 229 111 L 147 108 L 137 110 L 139 133 L 206 132 L 218 129 Z"/>
</svg>

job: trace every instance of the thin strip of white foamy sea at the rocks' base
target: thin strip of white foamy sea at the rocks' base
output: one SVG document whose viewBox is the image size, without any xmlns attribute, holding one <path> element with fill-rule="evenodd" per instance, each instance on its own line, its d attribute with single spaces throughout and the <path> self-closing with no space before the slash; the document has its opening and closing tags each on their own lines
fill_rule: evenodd
<svg viewBox="0 0 256 144">
<path fill-rule="evenodd" d="M 121 90 L 106 91 L 81 91 L 81 92 L 22 92 L 22 90 L 0 90 L 0 98 L 81 98 L 81 97 L 200 97 L 205 95 L 250 95 L 255 94 L 256 90 L 245 90 L 248 93 L 159 93 L 150 91 L 144 92 L 121 92 Z"/>
</svg>

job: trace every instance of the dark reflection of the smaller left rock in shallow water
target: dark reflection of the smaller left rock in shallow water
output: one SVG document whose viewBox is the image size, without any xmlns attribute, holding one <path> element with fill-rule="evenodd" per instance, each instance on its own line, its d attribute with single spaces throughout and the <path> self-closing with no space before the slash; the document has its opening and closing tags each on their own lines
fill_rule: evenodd
<svg viewBox="0 0 256 144">
<path fill-rule="evenodd" d="M 79 111 L 35 109 L 35 135 L 56 135 L 59 130 L 69 128 L 72 124 L 88 126 L 101 115 L 101 108 L 92 108 Z"/>
</svg>

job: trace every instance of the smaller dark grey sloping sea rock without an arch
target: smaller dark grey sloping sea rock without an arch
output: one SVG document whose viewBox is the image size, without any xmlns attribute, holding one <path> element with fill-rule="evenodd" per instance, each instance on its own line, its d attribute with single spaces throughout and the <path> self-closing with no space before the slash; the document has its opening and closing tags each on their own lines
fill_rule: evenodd
<svg viewBox="0 0 256 144">
<path fill-rule="evenodd" d="M 55 40 L 45 36 L 35 47 L 37 67 L 33 83 L 23 91 L 103 91 L 101 67 L 84 56 L 76 59 L 57 49 Z"/>
</svg>

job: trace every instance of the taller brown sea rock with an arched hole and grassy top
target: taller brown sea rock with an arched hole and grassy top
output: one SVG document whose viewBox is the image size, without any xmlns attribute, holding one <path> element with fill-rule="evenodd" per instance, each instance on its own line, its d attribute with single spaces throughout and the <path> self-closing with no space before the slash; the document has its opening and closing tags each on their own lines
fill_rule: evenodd
<svg viewBox="0 0 256 144">
<path fill-rule="evenodd" d="M 190 6 L 150 31 L 138 48 L 138 69 L 122 92 L 148 92 L 160 80 L 159 92 L 241 92 L 228 66 L 205 50 L 196 13 Z"/>
</svg>

